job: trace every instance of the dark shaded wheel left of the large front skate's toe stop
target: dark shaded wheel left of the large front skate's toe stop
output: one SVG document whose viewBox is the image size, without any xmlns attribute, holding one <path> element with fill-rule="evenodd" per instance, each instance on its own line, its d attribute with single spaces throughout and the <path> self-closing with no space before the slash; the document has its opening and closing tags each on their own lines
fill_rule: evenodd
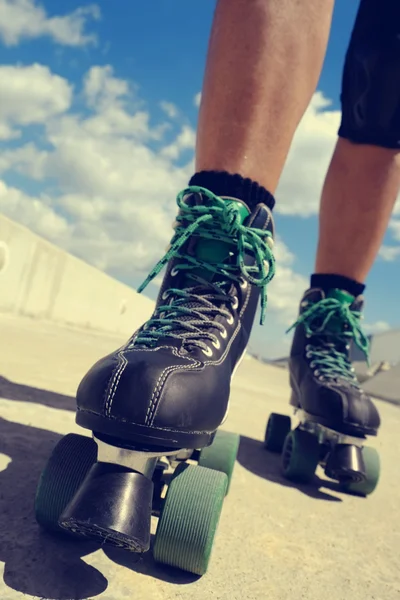
<svg viewBox="0 0 400 600">
<path fill-rule="evenodd" d="M 64 532 L 58 519 L 97 458 L 96 442 L 70 433 L 54 448 L 36 490 L 36 521 L 44 529 Z"/>
</svg>

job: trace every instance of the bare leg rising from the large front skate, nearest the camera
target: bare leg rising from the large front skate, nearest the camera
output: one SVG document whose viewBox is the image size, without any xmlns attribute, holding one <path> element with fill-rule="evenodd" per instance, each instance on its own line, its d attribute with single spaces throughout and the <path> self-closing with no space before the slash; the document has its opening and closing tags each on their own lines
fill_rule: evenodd
<svg viewBox="0 0 400 600">
<path fill-rule="evenodd" d="M 219 0 L 196 170 L 239 173 L 274 193 L 315 91 L 334 0 Z"/>
</svg>

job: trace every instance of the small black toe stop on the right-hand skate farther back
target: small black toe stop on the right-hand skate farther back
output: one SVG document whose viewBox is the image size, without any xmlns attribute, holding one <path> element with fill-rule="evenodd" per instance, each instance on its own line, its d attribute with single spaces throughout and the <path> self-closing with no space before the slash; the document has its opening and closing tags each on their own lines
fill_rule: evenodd
<svg viewBox="0 0 400 600">
<path fill-rule="evenodd" d="M 329 455 L 325 473 L 344 484 L 365 481 L 367 472 L 362 449 L 351 444 L 337 444 Z"/>
</svg>

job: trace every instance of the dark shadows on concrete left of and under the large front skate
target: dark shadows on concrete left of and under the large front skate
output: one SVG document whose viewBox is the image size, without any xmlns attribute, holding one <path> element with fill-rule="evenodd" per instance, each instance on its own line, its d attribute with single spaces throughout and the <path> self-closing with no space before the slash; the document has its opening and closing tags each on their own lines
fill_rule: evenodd
<svg viewBox="0 0 400 600">
<path fill-rule="evenodd" d="M 74 409 L 74 399 L 69 396 L 13 384 L 4 378 L 0 378 L 0 395 Z M 0 418 L 3 464 L 7 464 L 6 457 L 9 459 L 7 467 L 0 471 L 0 561 L 5 563 L 4 582 L 13 590 L 46 600 L 84 600 L 98 596 L 108 586 L 102 573 L 82 560 L 99 550 L 99 545 L 50 535 L 39 528 L 34 517 L 37 482 L 60 439 L 57 433 Z M 105 554 L 132 571 L 170 583 L 196 580 L 180 571 L 159 567 L 151 553 L 139 557 L 109 548 Z"/>
</svg>

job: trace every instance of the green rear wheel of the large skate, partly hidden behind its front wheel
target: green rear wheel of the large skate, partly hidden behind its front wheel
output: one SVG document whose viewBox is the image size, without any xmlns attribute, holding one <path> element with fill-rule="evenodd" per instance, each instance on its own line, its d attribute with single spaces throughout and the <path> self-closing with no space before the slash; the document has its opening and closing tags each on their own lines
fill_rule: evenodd
<svg viewBox="0 0 400 600">
<path fill-rule="evenodd" d="M 229 491 L 233 469 L 239 450 L 240 436 L 229 431 L 217 431 L 211 446 L 203 448 L 200 452 L 199 465 L 213 471 L 221 471 L 228 476 Z"/>
</svg>

